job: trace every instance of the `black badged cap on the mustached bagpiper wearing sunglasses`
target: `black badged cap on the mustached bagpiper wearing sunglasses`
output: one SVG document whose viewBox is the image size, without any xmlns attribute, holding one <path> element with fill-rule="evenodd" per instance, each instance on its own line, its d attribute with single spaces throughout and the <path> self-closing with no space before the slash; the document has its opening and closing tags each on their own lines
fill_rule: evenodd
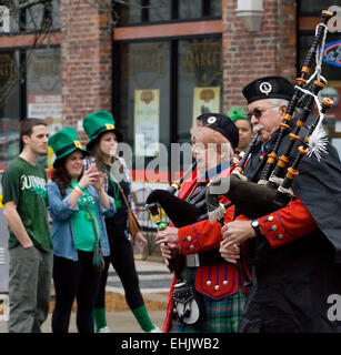
<svg viewBox="0 0 341 355">
<path fill-rule="evenodd" d="M 263 99 L 283 99 L 290 101 L 294 92 L 293 85 L 282 77 L 264 77 L 251 81 L 242 93 L 248 104 Z"/>
</svg>

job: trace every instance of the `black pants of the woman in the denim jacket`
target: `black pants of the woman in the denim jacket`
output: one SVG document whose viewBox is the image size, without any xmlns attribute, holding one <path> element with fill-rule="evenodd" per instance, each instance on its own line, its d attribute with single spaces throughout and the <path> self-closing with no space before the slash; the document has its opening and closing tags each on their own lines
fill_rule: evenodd
<svg viewBox="0 0 341 355">
<path fill-rule="evenodd" d="M 78 251 L 78 261 L 53 257 L 56 306 L 52 332 L 68 333 L 71 308 L 77 298 L 77 328 L 93 333 L 92 311 L 100 283 L 100 272 L 92 265 L 92 252 Z"/>
</svg>

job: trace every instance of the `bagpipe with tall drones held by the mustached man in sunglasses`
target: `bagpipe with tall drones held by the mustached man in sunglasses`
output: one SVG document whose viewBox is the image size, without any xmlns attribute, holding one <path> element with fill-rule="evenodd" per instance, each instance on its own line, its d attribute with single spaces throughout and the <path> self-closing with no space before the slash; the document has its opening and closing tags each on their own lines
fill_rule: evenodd
<svg viewBox="0 0 341 355">
<path fill-rule="evenodd" d="M 295 80 L 293 95 L 288 104 L 283 121 L 280 123 L 271 153 L 268 154 L 258 183 L 248 181 L 243 174 L 250 154 L 259 144 L 257 136 L 254 136 L 231 176 L 215 178 L 208 184 L 205 200 L 211 222 L 221 219 L 225 213 L 227 206 L 218 202 L 220 195 L 229 197 L 231 203 L 228 206 L 234 205 L 240 214 L 249 219 L 257 219 L 287 206 L 294 196 L 292 183 L 299 174 L 303 156 L 315 155 L 320 161 L 321 155 L 327 153 L 328 139 L 322 122 L 333 101 L 325 98 L 320 102 L 318 94 L 327 85 L 327 80 L 321 75 L 321 63 L 328 32 L 327 23 L 332 17 L 333 13 L 327 10 L 321 13 L 321 22 L 317 26 L 315 37 L 305 55 L 301 75 Z M 314 58 L 315 71 L 308 78 Z M 313 102 L 317 104 L 319 114 L 315 121 L 307 126 Z M 302 128 L 308 131 L 303 139 L 300 136 Z M 290 140 L 289 142 L 287 140 L 288 145 L 283 146 L 283 139 L 288 135 Z M 278 158 L 280 149 L 284 153 Z M 288 166 L 290 161 L 293 162 L 291 166 Z M 250 203 L 251 201 L 252 203 Z"/>
</svg>

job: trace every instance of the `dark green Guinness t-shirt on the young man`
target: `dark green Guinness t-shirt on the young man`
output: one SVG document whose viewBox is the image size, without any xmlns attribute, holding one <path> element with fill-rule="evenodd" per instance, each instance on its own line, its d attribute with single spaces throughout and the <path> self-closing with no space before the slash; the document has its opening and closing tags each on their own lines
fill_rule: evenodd
<svg viewBox="0 0 341 355">
<path fill-rule="evenodd" d="M 47 173 L 18 156 L 2 175 L 3 204 L 13 201 L 21 221 L 36 246 L 52 251 L 48 225 Z M 19 244 L 10 230 L 9 248 Z"/>
</svg>

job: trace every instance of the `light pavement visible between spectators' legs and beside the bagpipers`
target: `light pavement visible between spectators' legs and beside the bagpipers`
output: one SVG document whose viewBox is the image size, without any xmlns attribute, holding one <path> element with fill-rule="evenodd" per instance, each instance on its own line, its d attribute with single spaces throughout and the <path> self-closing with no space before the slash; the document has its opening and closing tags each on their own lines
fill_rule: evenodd
<svg viewBox="0 0 341 355">
<path fill-rule="evenodd" d="M 162 329 L 166 318 L 168 290 L 171 283 L 171 275 L 168 272 L 166 265 L 162 263 L 136 261 L 136 265 L 140 278 L 140 288 L 143 298 L 164 303 L 163 311 L 149 311 L 149 315 L 153 324 Z M 110 270 L 110 273 L 111 275 L 109 276 L 109 280 L 112 285 L 108 286 L 108 291 L 122 294 L 123 291 L 118 284 L 119 281 L 117 280 L 116 273 L 113 272 L 113 270 Z M 164 284 L 164 282 L 167 284 Z M 130 310 L 124 312 L 107 312 L 107 323 L 111 329 L 111 333 L 142 332 Z M 3 321 L 0 322 L 0 333 L 7 332 L 7 323 Z M 49 314 L 48 320 L 42 325 L 42 332 L 51 333 L 51 314 Z M 76 326 L 76 313 L 71 314 L 69 332 L 78 333 Z"/>
</svg>

